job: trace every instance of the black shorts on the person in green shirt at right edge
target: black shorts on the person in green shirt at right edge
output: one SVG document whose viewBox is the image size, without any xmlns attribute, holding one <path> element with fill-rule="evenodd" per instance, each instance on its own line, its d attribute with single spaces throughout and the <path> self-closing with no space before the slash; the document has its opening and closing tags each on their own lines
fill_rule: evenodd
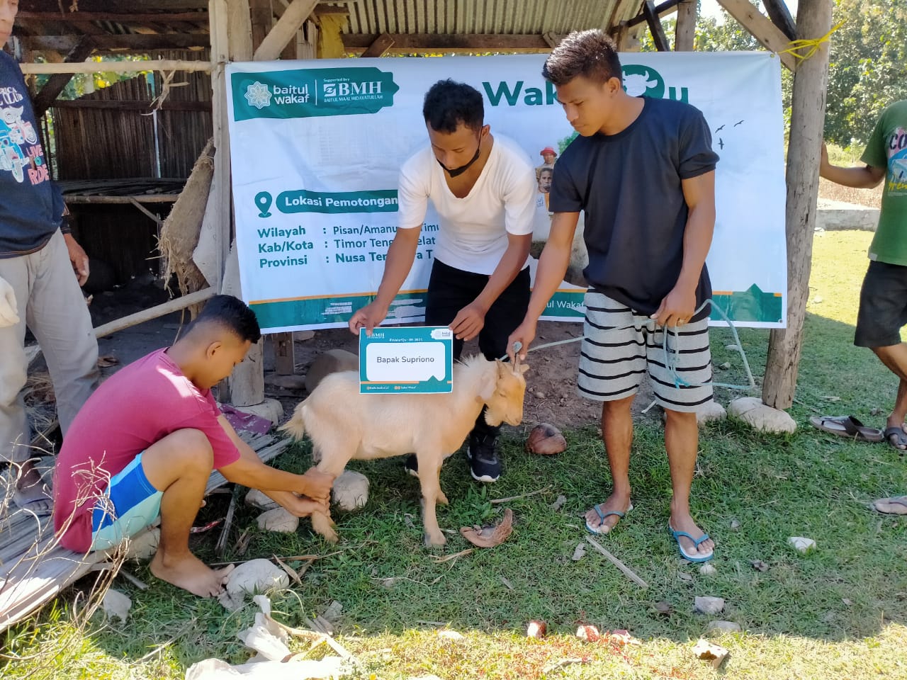
<svg viewBox="0 0 907 680">
<path fill-rule="evenodd" d="M 899 345 L 903 325 L 907 325 L 907 267 L 870 262 L 860 290 L 853 345 Z"/>
</svg>

